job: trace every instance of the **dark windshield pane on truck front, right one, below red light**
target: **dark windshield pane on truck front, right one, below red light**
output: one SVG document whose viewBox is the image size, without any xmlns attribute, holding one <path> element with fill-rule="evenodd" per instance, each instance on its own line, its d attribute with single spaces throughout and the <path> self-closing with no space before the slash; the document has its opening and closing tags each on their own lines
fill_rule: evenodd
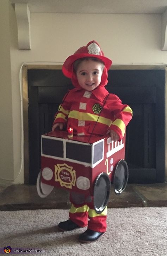
<svg viewBox="0 0 167 256">
<path fill-rule="evenodd" d="M 91 163 L 91 146 L 67 142 L 66 157 L 84 163 Z"/>
</svg>

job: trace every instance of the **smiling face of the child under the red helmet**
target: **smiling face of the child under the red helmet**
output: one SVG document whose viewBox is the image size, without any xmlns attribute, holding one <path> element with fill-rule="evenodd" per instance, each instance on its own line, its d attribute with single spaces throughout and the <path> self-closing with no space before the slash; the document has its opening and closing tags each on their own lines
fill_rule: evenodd
<svg viewBox="0 0 167 256">
<path fill-rule="evenodd" d="M 93 91 L 101 83 L 102 69 L 100 62 L 93 60 L 82 61 L 76 71 L 79 85 L 86 91 Z"/>
</svg>

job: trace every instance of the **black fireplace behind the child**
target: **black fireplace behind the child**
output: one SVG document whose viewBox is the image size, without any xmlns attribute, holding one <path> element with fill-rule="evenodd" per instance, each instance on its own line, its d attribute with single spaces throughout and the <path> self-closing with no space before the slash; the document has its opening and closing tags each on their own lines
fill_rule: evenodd
<svg viewBox="0 0 167 256">
<path fill-rule="evenodd" d="M 25 69 L 29 102 L 25 177 L 26 183 L 35 184 L 40 170 L 41 135 L 51 130 L 58 105 L 73 86 L 60 66 L 26 66 Z M 118 69 L 115 66 L 109 70 L 108 80 L 107 90 L 118 95 L 133 110 L 133 118 L 126 129 L 125 160 L 129 166 L 129 183 L 164 182 L 165 67 L 124 66 Z"/>
</svg>

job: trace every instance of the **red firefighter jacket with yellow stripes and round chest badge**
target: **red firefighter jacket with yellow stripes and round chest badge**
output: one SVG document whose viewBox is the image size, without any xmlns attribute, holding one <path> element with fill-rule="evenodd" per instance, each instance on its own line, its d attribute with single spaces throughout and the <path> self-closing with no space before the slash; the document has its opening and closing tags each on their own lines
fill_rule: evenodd
<svg viewBox="0 0 167 256">
<path fill-rule="evenodd" d="M 73 128 L 74 135 L 104 135 L 109 129 L 114 130 L 121 140 L 125 127 L 132 117 L 131 108 L 122 104 L 105 87 L 93 91 L 75 88 L 64 97 L 54 123 Z"/>
</svg>

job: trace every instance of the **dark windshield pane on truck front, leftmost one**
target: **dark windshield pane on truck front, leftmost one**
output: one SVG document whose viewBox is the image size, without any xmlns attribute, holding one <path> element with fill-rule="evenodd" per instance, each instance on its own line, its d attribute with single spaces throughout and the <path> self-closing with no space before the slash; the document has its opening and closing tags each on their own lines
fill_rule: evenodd
<svg viewBox="0 0 167 256">
<path fill-rule="evenodd" d="M 48 156 L 63 157 L 63 141 L 42 138 L 42 153 Z"/>
</svg>

